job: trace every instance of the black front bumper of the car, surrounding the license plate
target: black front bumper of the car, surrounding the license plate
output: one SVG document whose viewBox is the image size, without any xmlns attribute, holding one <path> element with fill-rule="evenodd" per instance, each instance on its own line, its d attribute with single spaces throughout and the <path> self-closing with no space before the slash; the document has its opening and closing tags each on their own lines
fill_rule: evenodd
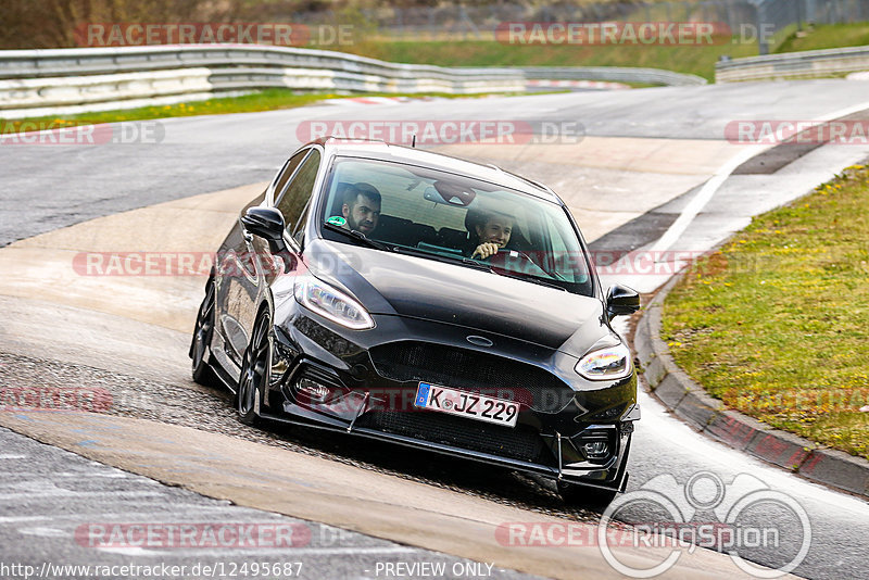
<svg viewBox="0 0 869 580">
<path fill-rule="evenodd" d="M 635 375 L 583 390 L 581 379 L 568 383 L 561 378 L 565 368 L 572 371 L 575 358 L 564 361 L 561 358 L 567 355 L 558 351 L 520 341 L 499 340 L 493 353 L 469 345 L 467 329 L 395 316 L 377 317 L 379 332 L 353 332 L 298 306 L 285 320 L 275 327 L 273 381 L 265 398 L 273 418 L 569 483 L 617 490 L 626 483 L 633 421 L 639 419 Z M 431 378 L 444 361 L 416 369 L 420 376 L 411 373 L 415 367 L 385 365 L 383 346 L 394 350 L 396 345 L 411 349 L 419 344 L 434 345 L 438 352 L 467 352 L 475 361 L 483 361 L 475 365 L 480 368 L 494 362 L 514 373 L 526 369 L 518 378 L 520 384 L 538 373 L 555 380 L 540 387 L 546 379 L 541 375 L 526 389 L 504 384 L 506 375 L 501 375 L 499 383 L 479 384 L 484 394 L 520 402 L 514 428 L 419 409 L 413 405 L 419 380 L 474 390 L 467 380 L 462 383 L 462 378 L 474 375 L 470 378 L 479 379 L 479 368 L 471 373 L 457 367 L 442 369 L 445 375 Z M 451 376 L 455 378 L 451 380 Z"/>
</svg>

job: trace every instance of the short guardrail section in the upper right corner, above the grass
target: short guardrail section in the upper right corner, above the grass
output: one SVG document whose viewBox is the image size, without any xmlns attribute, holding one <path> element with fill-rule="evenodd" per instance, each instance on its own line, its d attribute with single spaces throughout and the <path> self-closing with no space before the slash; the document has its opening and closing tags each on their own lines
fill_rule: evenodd
<svg viewBox="0 0 869 580">
<path fill-rule="evenodd" d="M 716 83 L 813 78 L 869 71 L 869 46 L 750 56 L 718 62 Z"/>
</svg>

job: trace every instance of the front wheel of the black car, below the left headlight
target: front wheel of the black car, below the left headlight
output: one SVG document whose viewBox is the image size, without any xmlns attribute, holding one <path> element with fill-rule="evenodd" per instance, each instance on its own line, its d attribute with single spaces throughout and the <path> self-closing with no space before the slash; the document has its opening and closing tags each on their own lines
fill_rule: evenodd
<svg viewBox="0 0 869 580">
<path fill-rule="evenodd" d="M 268 312 L 262 313 L 256 318 L 251 341 L 244 351 L 241 363 L 236 411 L 238 411 L 238 419 L 244 425 L 255 426 L 262 420 L 259 407 L 268 386 L 268 374 L 272 369 L 272 343 L 268 340 L 270 325 L 272 317 Z"/>
</svg>

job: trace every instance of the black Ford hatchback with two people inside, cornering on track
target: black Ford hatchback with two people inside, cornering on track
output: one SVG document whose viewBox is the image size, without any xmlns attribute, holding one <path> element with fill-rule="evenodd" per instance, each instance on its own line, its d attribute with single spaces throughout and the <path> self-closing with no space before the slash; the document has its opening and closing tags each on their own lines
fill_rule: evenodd
<svg viewBox="0 0 869 580">
<path fill-rule="evenodd" d="M 317 425 L 624 491 L 637 405 L 604 294 L 546 187 L 374 141 L 302 147 L 243 209 L 197 317 L 193 378 L 239 417 Z"/>
</svg>

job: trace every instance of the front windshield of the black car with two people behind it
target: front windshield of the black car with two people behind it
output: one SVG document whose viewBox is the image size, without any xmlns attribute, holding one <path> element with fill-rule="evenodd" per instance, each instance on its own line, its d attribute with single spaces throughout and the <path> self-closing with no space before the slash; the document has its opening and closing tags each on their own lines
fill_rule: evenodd
<svg viewBox="0 0 869 580">
<path fill-rule="evenodd" d="M 452 173 L 355 157 L 337 159 L 325 187 L 320 219 L 329 239 L 593 295 L 587 255 L 556 203 Z"/>
</svg>

